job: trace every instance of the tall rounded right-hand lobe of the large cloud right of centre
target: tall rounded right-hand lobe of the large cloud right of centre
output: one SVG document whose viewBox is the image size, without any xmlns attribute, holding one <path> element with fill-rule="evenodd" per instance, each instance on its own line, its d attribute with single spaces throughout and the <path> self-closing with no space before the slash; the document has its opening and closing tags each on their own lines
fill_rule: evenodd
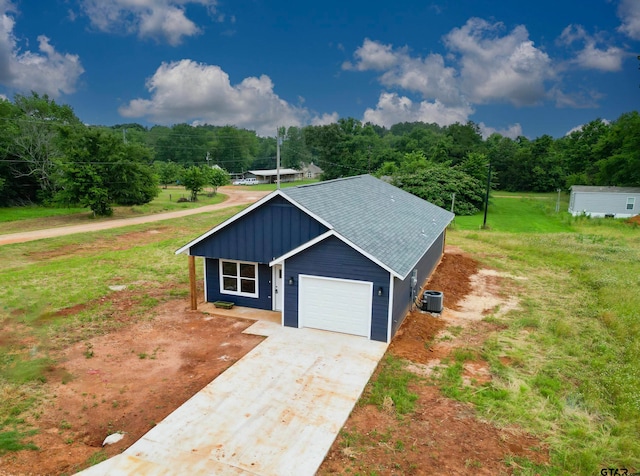
<svg viewBox="0 0 640 476">
<path fill-rule="evenodd" d="M 459 55 L 460 88 L 476 104 L 537 104 L 546 97 L 545 82 L 555 77 L 551 59 L 524 26 L 500 36 L 503 29 L 502 23 L 471 18 L 445 36 L 445 45 Z"/>
</svg>

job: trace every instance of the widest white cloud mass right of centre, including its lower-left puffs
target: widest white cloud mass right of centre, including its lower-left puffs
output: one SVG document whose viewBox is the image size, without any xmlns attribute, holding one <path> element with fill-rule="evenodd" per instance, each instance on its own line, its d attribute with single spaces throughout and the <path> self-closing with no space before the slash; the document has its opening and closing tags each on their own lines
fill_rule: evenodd
<svg viewBox="0 0 640 476">
<path fill-rule="evenodd" d="M 381 124 L 397 116 L 431 118 L 446 125 L 465 122 L 474 104 L 525 106 L 548 99 L 547 83 L 557 80 L 551 59 L 535 47 L 524 26 L 507 33 L 503 29 L 501 23 L 471 18 L 445 35 L 444 56 L 411 56 L 407 47 L 394 48 L 367 38 L 354 52 L 354 61 L 342 68 L 378 71 L 383 86 L 420 95 L 415 101 L 383 93 L 364 118 Z"/>
</svg>

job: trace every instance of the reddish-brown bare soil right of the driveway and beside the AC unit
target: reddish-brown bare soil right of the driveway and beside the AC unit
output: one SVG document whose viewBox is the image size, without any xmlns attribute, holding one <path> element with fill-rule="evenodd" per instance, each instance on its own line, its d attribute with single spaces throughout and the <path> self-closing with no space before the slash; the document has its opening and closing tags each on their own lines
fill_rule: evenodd
<svg viewBox="0 0 640 476">
<path fill-rule="evenodd" d="M 479 269 L 461 250 L 447 247 L 425 285 L 444 293 L 444 311 L 439 316 L 411 312 L 388 352 L 408 360 L 408 370 L 428 377 L 452 351 L 466 349 L 464 384 L 489 382 L 489 366 L 473 349 L 499 329 L 482 321 L 484 316 L 517 306 L 504 289 L 505 278 L 495 270 Z M 410 391 L 418 395 L 416 410 L 402 420 L 374 405 L 357 406 L 318 474 L 494 475 L 513 473 L 514 467 L 505 462 L 508 457 L 548 462 L 548 450 L 538 439 L 479 420 L 473 406 L 443 396 L 428 380 L 412 383 Z"/>
</svg>

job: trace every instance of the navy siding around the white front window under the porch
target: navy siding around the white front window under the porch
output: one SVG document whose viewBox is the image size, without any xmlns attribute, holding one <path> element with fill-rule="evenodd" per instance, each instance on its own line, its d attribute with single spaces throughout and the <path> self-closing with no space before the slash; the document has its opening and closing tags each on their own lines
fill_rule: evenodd
<svg viewBox="0 0 640 476">
<path fill-rule="evenodd" d="M 271 268 L 268 264 L 258 264 L 258 297 L 237 296 L 220 292 L 220 261 L 205 258 L 206 301 L 227 301 L 237 306 L 256 309 L 272 309 L 271 304 Z"/>
</svg>

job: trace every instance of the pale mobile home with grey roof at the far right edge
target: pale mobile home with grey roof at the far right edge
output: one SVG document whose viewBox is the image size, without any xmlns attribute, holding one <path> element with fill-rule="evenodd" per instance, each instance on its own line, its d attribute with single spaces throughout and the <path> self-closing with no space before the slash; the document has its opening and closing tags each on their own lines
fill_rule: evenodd
<svg viewBox="0 0 640 476">
<path fill-rule="evenodd" d="M 571 187 L 569 213 L 573 216 L 629 218 L 640 210 L 640 187 Z"/>
</svg>

